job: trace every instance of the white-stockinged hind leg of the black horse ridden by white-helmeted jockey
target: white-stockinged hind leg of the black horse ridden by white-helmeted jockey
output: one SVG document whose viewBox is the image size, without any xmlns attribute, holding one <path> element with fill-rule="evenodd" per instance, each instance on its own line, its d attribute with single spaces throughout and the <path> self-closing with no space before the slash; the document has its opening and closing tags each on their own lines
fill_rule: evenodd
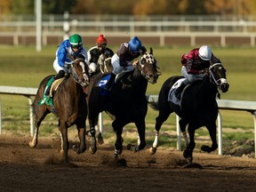
<svg viewBox="0 0 256 192">
<path fill-rule="evenodd" d="M 171 115 L 172 113 L 172 108 L 169 107 L 169 104 L 166 103 L 165 105 L 162 105 L 161 108 L 159 108 L 159 114 L 156 117 L 156 124 L 155 124 L 155 140 L 153 142 L 153 145 L 151 148 L 149 148 L 149 152 L 151 155 L 156 153 L 156 148 L 158 147 L 158 138 L 159 138 L 159 131 L 161 129 L 162 124 L 167 120 L 167 118 Z"/>
</svg>

